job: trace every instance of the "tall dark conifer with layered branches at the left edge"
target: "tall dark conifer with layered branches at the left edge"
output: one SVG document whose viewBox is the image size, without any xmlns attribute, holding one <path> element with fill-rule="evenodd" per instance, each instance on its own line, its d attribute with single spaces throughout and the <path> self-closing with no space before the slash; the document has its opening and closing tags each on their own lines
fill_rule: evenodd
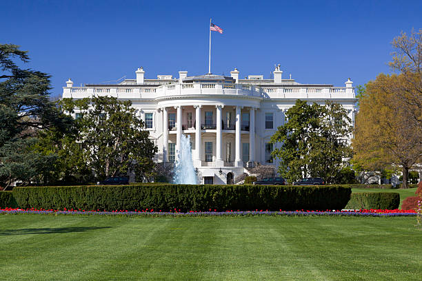
<svg viewBox="0 0 422 281">
<path fill-rule="evenodd" d="M 40 129 L 66 131 L 71 118 L 49 101 L 50 76 L 21 69 L 14 62 L 28 63 L 27 51 L 12 44 L 0 45 L 0 185 L 14 181 L 42 181 L 51 170 L 54 155 L 32 151 Z"/>
</svg>

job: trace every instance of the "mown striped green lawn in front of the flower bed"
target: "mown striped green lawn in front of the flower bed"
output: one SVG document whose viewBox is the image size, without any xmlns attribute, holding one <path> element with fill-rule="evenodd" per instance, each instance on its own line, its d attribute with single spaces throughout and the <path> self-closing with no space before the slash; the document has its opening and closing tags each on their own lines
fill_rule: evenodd
<svg viewBox="0 0 422 281">
<path fill-rule="evenodd" d="M 416 218 L 0 216 L 1 280 L 421 280 Z"/>
</svg>

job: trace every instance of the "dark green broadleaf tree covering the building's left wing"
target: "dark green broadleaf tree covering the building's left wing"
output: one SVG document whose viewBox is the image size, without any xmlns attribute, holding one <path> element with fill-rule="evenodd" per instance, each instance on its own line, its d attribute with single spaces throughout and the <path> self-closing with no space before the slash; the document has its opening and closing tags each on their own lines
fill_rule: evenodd
<svg viewBox="0 0 422 281">
<path fill-rule="evenodd" d="M 81 169 L 88 165 L 99 180 L 128 172 L 134 172 L 137 178 L 153 176 L 152 158 L 158 149 L 130 101 L 99 96 L 80 101 L 65 98 L 62 105 L 68 112 L 81 110 L 74 142 L 83 154 Z M 74 152 L 74 147 L 65 149 Z"/>
</svg>

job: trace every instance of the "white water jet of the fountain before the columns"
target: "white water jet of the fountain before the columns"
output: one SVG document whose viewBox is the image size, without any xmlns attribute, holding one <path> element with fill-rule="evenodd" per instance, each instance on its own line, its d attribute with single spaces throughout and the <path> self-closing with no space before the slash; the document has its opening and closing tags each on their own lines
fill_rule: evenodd
<svg viewBox="0 0 422 281">
<path fill-rule="evenodd" d="M 173 183 L 197 184 L 197 174 L 192 162 L 192 151 L 190 150 L 190 136 L 181 135 L 179 151 L 177 152 L 176 163 L 174 163 Z"/>
</svg>

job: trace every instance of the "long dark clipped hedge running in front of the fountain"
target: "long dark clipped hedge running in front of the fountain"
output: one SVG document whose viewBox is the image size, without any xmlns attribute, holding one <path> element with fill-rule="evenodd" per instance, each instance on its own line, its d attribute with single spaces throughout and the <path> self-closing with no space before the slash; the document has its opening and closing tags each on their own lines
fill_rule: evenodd
<svg viewBox="0 0 422 281">
<path fill-rule="evenodd" d="M 22 209 L 170 211 L 343 209 L 351 189 L 334 186 L 117 185 L 16 187 Z"/>
</svg>

